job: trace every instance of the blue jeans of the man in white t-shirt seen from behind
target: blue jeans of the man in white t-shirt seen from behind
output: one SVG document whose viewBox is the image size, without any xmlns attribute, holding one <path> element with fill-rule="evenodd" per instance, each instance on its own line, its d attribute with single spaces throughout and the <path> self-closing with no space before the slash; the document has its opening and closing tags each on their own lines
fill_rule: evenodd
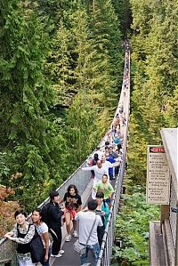
<svg viewBox="0 0 178 266">
<path fill-rule="evenodd" d="M 93 254 L 93 266 L 96 266 L 98 261 L 98 256 L 100 254 L 100 246 L 99 243 L 96 243 L 94 245 L 87 245 L 86 246 L 86 253 L 80 256 L 81 265 L 88 262 L 88 252 L 89 250 Z"/>
</svg>

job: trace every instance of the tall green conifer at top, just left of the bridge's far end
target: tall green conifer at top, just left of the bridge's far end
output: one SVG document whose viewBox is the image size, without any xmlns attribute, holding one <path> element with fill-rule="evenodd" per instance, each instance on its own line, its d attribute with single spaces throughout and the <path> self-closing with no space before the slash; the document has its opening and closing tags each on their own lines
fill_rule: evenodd
<svg viewBox="0 0 178 266">
<path fill-rule="evenodd" d="M 119 21 L 113 4 L 110 0 L 93 1 L 90 17 L 90 27 L 92 28 L 92 36 L 95 40 L 97 57 L 99 56 L 103 62 L 105 60 L 108 61 L 102 67 L 105 69 L 105 72 L 106 70 L 109 72 L 110 79 L 113 81 L 113 85 L 110 84 L 109 88 L 113 88 L 113 92 L 116 93 L 123 74 L 123 55 L 121 50 L 121 33 L 118 28 Z M 110 89 L 105 90 L 105 92 L 106 95 L 111 93 Z M 112 99 L 112 95 L 110 98 Z M 113 104 L 112 101 L 110 103 Z"/>
</svg>

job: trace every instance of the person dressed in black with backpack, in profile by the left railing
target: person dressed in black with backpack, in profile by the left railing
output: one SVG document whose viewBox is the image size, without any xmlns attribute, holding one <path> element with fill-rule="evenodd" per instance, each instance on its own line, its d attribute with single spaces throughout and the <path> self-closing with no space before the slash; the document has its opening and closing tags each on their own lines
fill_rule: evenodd
<svg viewBox="0 0 178 266">
<path fill-rule="evenodd" d="M 59 206 L 60 195 L 58 191 L 50 192 L 50 202 L 42 209 L 42 221 L 49 228 L 53 238 L 51 257 L 60 258 L 64 251 L 61 250 L 61 216 L 63 212 Z"/>
</svg>

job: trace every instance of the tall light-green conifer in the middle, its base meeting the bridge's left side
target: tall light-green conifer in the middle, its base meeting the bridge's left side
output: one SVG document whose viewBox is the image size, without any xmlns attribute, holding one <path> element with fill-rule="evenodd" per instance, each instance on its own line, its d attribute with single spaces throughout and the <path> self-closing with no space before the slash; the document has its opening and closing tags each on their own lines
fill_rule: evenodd
<svg viewBox="0 0 178 266">
<path fill-rule="evenodd" d="M 103 92 L 111 83 L 107 70 L 102 69 L 108 60 L 103 62 L 98 59 L 99 54 L 95 48 L 95 40 L 89 32 L 85 9 L 80 6 L 80 9 L 69 16 L 69 20 L 72 26 L 74 54 L 77 55 L 74 69 L 77 95 L 67 117 L 68 142 L 72 149 L 70 161 L 81 163 L 93 149 L 95 142 L 100 140 L 103 129 L 106 130 L 107 117 L 104 117 L 105 125 L 102 123 L 100 128 L 98 125 L 101 115 L 107 115 Z"/>
</svg>

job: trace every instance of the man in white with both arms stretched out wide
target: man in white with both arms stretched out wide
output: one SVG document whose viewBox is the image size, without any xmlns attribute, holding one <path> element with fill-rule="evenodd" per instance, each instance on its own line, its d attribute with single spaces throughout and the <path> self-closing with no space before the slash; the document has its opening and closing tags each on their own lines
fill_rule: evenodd
<svg viewBox="0 0 178 266">
<path fill-rule="evenodd" d="M 102 165 L 101 160 L 98 160 L 96 165 L 83 167 L 81 168 L 83 171 L 94 171 L 94 179 L 93 179 L 93 187 L 96 185 L 97 182 L 102 180 L 103 174 L 108 174 L 108 170 Z M 92 198 L 95 199 L 96 192 L 92 191 Z"/>
</svg>

